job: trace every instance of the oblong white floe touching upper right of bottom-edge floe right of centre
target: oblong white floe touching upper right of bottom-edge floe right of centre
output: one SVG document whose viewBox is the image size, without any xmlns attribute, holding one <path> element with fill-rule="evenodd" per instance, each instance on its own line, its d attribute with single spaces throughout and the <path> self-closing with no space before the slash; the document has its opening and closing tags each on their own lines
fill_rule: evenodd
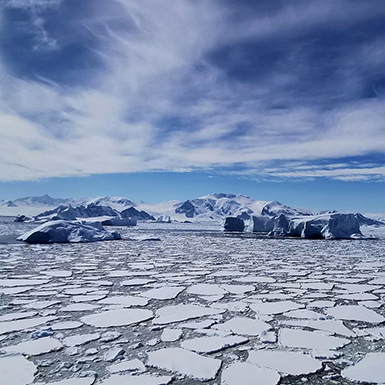
<svg viewBox="0 0 385 385">
<path fill-rule="evenodd" d="M 320 361 L 297 352 L 252 350 L 249 352 L 247 361 L 293 376 L 315 373 L 322 369 Z"/>
</svg>

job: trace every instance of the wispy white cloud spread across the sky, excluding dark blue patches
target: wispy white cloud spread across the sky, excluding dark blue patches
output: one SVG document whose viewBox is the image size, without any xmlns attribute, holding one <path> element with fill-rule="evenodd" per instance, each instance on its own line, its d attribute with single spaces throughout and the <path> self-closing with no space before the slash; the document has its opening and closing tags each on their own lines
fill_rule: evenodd
<svg viewBox="0 0 385 385">
<path fill-rule="evenodd" d="M 44 9 L 49 2 L 9 4 Z M 315 8 L 311 2 L 300 13 L 285 9 L 270 18 L 256 16 L 240 30 L 215 2 L 119 4 L 99 9 L 98 3 L 92 17 L 74 22 L 75 32 L 87 30 L 98 40 L 97 53 L 104 63 L 88 86 L 19 79 L 1 65 L 0 56 L 2 180 L 235 164 L 242 164 L 246 173 L 265 170 L 285 178 L 384 176 L 384 168 L 376 165 L 358 170 L 312 164 L 383 152 L 384 99 L 328 111 L 306 103 L 269 109 L 267 99 L 291 97 L 284 89 L 295 78 L 273 73 L 257 85 L 231 82 L 205 59 L 212 49 L 235 40 L 286 33 L 299 21 L 305 28 L 314 27 L 330 15 L 350 23 L 358 11 L 346 15 L 338 6 L 332 13 L 331 2 Z M 60 41 L 50 40 L 44 20 L 36 22 L 36 9 L 39 42 L 57 48 Z M 126 28 L 115 28 L 117 21 Z M 378 50 L 373 55 L 378 58 Z M 180 123 L 162 123 L 164 117 L 177 117 Z M 292 160 L 302 166 L 281 171 L 266 166 Z"/>
</svg>

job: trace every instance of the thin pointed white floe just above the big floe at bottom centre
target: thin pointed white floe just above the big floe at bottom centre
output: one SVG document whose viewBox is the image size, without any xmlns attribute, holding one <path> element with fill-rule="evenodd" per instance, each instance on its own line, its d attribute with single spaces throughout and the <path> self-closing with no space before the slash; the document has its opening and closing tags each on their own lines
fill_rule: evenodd
<svg viewBox="0 0 385 385">
<path fill-rule="evenodd" d="M 239 336 L 200 337 L 184 340 L 181 347 L 197 353 L 215 353 L 227 348 L 244 344 L 249 340 Z"/>
</svg>

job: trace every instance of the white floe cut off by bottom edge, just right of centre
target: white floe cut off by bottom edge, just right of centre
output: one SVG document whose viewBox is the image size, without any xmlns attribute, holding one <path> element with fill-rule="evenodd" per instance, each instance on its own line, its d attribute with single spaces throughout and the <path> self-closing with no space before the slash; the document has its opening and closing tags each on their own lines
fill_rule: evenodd
<svg viewBox="0 0 385 385">
<path fill-rule="evenodd" d="M 276 385 L 280 381 L 277 371 L 260 368 L 249 363 L 231 364 L 222 373 L 222 385 Z"/>
</svg>

